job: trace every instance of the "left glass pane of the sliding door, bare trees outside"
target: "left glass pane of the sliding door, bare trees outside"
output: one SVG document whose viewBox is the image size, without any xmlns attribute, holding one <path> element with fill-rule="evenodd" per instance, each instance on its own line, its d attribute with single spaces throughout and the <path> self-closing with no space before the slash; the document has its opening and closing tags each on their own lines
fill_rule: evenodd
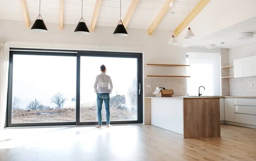
<svg viewBox="0 0 256 161">
<path fill-rule="evenodd" d="M 13 56 L 12 123 L 76 121 L 75 98 L 75 56 Z"/>
</svg>

